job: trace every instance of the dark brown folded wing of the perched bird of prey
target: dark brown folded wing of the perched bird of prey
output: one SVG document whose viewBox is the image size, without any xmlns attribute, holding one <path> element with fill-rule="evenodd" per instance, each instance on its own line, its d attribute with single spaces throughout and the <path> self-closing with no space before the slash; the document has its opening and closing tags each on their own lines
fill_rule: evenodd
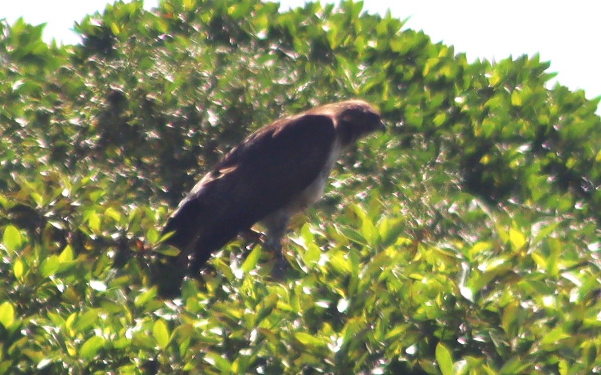
<svg viewBox="0 0 601 375">
<path fill-rule="evenodd" d="M 329 116 L 282 119 L 251 134 L 199 182 L 169 218 L 168 243 L 192 250 L 197 271 L 212 251 L 288 205 L 325 166 L 335 140 Z"/>
</svg>

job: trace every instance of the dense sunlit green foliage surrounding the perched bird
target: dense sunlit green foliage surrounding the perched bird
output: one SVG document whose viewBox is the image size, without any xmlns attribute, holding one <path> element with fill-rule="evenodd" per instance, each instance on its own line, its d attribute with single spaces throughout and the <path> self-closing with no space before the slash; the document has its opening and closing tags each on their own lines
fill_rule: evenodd
<svg viewBox="0 0 601 375">
<path fill-rule="evenodd" d="M 0 23 L 0 373 L 601 371 L 599 98 L 537 56 L 469 64 L 362 3 L 117 2 Z M 285 113 L 359 97 L 387 134 L 180 301 L 148 280 L 195 179 Z"/>
</svg>

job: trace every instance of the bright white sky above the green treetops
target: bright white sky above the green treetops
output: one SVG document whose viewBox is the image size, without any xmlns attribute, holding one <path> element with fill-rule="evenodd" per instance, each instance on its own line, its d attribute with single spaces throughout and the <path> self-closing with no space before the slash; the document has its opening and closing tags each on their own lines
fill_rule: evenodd
<svg viewBox="0 0 601 375">
<path fill-rule="evenodd" d="M 322 0 L 322 2 L 332 0 Z M 281 0 L 281 9 L 304 0 Z M 105 8 L 106 0 L 0 0 L 0 18 L 18 17 L 33 25 L 46 22 L 44 39 L 78 43 L 70 29 L 85 14 Z M 146 0 L 145 8 L 158 0 Z M 454 45 L 455 52 L 500 60 L 510 55 L 540 53 L 551 61 L 549 71 L 570 89 L 584 89 L 587 98 L 601 95 L 601 1 L 599 0 L 365 0 L 364 9 L 410 17 L 406 28 L 424 30 L 435 43 Z M 601 112 L 601 108 L 597 113 Z"/>
</svg>

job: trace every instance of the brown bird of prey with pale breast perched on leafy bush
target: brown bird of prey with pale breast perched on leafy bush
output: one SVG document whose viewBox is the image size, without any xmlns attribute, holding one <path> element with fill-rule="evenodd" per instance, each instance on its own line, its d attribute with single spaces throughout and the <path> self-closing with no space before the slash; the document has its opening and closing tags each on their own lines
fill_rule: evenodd
<svg viewBox="0 0 601 375">
<path fill-rule="evenodd" d="M 159 293 L 178 293 L 186 273 L 198 273 L 213 251 L 248 231 L 267 229 L 280 241 L 293 214 L 322 195 L 334 163 L 359 137 L 383 130 L 377 110 L 362 100 L 326 104 L 281 118 L 246 137 L 192 188 L 169 217 L 166 244 L 180 249 L 159 268 Z"/>
</svg>

